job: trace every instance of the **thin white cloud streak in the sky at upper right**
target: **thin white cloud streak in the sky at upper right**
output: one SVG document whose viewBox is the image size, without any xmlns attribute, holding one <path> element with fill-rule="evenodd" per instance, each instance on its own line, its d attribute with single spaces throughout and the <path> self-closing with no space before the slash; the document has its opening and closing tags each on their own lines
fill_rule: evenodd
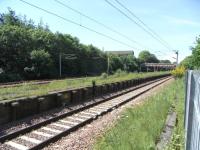
<svg viewBox="0 0 200 150">
<path fill-rule="evenodd" d="M 169 22 L 175 23 L 175 24 L 178 24 L 178 25 L 190 25 L 190 26 L 200 27 L 200 22 L 196 22 L 196 21 L 193 21 L 193 20 L 176 18 L 176 17 L 172 17 L 172 16 L 165 16 L 165 18 Z"/>
</svg>

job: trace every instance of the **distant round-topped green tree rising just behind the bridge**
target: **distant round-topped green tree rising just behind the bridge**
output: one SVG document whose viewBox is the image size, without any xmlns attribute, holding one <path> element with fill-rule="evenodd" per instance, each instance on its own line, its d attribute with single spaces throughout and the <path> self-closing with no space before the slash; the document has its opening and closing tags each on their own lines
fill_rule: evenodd
<svg viewBox="0 0 200 150">
<path fill-rule="evenodd" d="M 156 58 L 154 54 L 151 54 L 149 51 L 141 51 L 138 57 L 141 63 L 158 63 L 159 60 Z"/>
</svg>

